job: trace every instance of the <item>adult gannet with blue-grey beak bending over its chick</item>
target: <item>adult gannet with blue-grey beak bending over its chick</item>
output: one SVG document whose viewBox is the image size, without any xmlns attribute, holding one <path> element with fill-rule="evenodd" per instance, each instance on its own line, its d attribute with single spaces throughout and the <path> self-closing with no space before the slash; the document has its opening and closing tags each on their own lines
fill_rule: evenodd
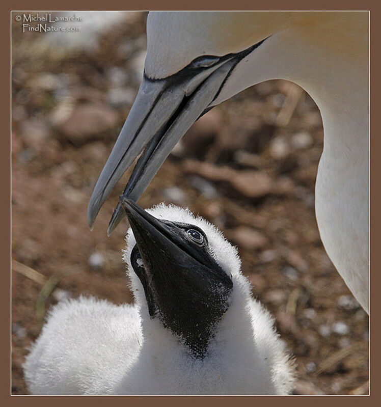
<svg viewBox="0 0 381 407">
<path fill-rule="evenodd" d="M 369 312 L 368 12 L 153 12 L 137 98 L 94 187 L 92 226 L 144 149 L 125 195 L 138 200 L 177 141 L 212 106 L 268 79 L 318 105 L 324 149 L 315 211 L 326 252 Z M 116 208 L 111 233 L 124 212 Z"/>
</svg>

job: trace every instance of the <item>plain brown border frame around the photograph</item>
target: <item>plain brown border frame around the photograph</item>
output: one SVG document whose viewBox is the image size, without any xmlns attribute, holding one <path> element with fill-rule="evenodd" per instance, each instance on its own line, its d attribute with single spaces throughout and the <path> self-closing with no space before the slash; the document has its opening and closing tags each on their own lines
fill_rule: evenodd
<svg viewBox="0 0 381 407">
<path fill-rule="evenodd" d="M 10 55 L 10 11 L 11 10 L 370 10 L 370 41 L 371 44 L 374 45 L 372 47 L 372 53 L 370 58 L 371 64 L 371 77 L 370 77 L 370 87 L 371 87 L 371 112 L 377 112 L 379 109 L 378 106 L 378 98 L 376 97 L 375 89 L 379 89 L 379 75 L 378 72 L 381 71 L 380 69 L 380 61 L 379 61 L 379 53 L 377 39 L 380 38 L 380 24 L 379 24 L 379 13 L 377 13 L 380 9 L 379 5 L 374 6 L 370 4 L 370 2 L 343 2 L 343 1 L 320 1 L 319 3 L 315 3 L 315 7 L 307 7 L 306 2 L 302 1 L 292 1 L 281 2 L 280 0 L 272 0 L 271 2 L 265 2 L 265 4 L 258 4 L 254 2 L 248 1 L 235 1 L 234 3 L 224 1 L 219 2 L 208 2 L 206 5 L 204 1 L 201 0 L 193 0 L 192 4 L 179 4 L 179 2 L 169 1 L 169 0 L 161 0 L 159 3 L 154 2 L 153 0 L 145 0 L 145 1 L 138 1 L 138 0 L 130 0 L 129 2 L 121 3 L 121 2 L 82 2 L 80 5 L 76 1 L 67 0 L 64 3 L 61 3 L 61 7 L 57 3 L 52 4 L 51 2 L 47 2 L 46 0 L 40 0 L 34 2 L 33 4 L 25 1 L 17 1 L 17 2 L 7 2 L 8 5 L 3 8 L 3 12 L 1 14 L 2 19 L 2 37 L 1 42 L 3 46 L 3 55 Z M 266 7 L 263 7 L 265 5 Z M 105 7 L 108 6 L 108 7 Z M 234 7 L 233 7 L 234 6 Z M 262 7 L 261 7 L 262 6 Z M 288 7 L 286 7 L 288 6 Z M 3 100 L 2 100 L 2 109 L 0 110 L 2 114 L 2 123 L 7 123 L 7 128 L 3 132 L 3 137 L 0 138 L 1 142 L 1 149 L 0 152 L 2 154 L 2 159 L 0 160 L 0 177 L 2 179 L 1 185 L 3 191 L 6 193 L 3 194 L 3 198 L 1 200 L 1 210 L 0 214 L 2 217 L 2 225 L 3 230 L 5 230 L 4 242 L 1 245 L 1 259 L 3 263 L 3 284 L 1 285 L 2 295 L 0 299 L 0 307 L 2 310 L 3 318 L 2 325 L 3 335 L 1 337 L 1 349 L 2 349 L 2 371 L 1 371 L 1 395 L 3 402 L 12 404 L 23 404 L 28 403 L 28 405 L 38 405 L 41 406 L 43 404 L 51 405 L 51 403 L 67 403 L 72 402 L 79 402 L 80 404 L 87 404 L 90 405 L 102 405 L 104 403 L 103 397 L 81 397 L 78 396 L 70 396 L 70 400 L 63 399 L 58 396 L 10 396 L 10 389 L 11 389 L 11 379 L 10 379 L 10 248 L 11 248 L 11 239 L 10 239 L 10 226 L 11 226 L 11 216 L 10 216 L 10 192 L 11 192 L 11 183 L 10 183 L 10 102 L 9 97 L 10 95 L 10 64 L 2 64 L 0 69 L 3 71 L 0 75 L 2 80 L 2 90 L 3 90 Z M 377 108 L 378 107 L 378 108 Z M 376 121 L 377 115 L 371 115 L 371 134 L 377 134 L 380 131 L 377 127 L 379 127 L 378 121 Z M 379 303 L 381 302 L 379 295 L 377 295 L 377 288 L 381 287 L 380 284 L 380 274 L 374 272 L 380 263 L 380 251 L 377 250 L 378 242 L 379 242 L 379 233 L 377 233 L 377 227 L 375 225 L 379 224 L 379 214 L 376 210 L 378 207 L 377 203 L 379 204 L 379 191 L 377 190 L 377 174 L 380 170 L 378 167 L 381 165 L 380 160 L 376 159 L 376 152 L 379 150 L 380 140 L 379 137 L 373 136 L 371 137 L 371 152 L 370 152 L 370 185 L 371 185 L 371 200 L 370 200 L 370 208 L 371 208 L 371 314 L 376 315 L 376 310 L 379 309 Z M 227 396 L 201 396 L 197 399 L 194 397 L 185 397 L 185 396 L 164 396 L 164 397 L 154 397 L 154 396 L 143 396 L 143 397 L 136 397 L 136 396 L 127 396 L 128 398 L 123 399 L 123 396 L 108 396 L 107 402 L 120 402 L 123 403 L 138 403 L 139 405 L 143 404 L 152 404 L 152 403 L 159 403 L 165 405 L 187 405 L 197 403 L 207 403 L 207 405 L 218 403 L 219 405 L 227 405 L 228 403 L 231 404 L 232 402 L 239 402 L 240 405 L 244 405 L 247 403 L 255 403 L 260 401 L 261 404 L 268 404 L 268 403 L 282 403 L 282 405 L 295 405 L 298 403 L 308 403 L 313 404 L 320 404 L 324 402 L 326 404 L 333 404 L 336 402 L 345 402 L 348 406 L 355 405 L 359 402 L 364 403 L 374 403 L 376 400 L 380 399 L 379 396 L 379 379 L 381 373 L 379 372 L 379 361 L 381 360 L 380 357 L 380 350 L 379 347 L 375 345 L 378 342 L 380 337 L 380 327 L 377 326 L 377 323 L 371 324 L 371 335 L 370 335 L 370 345 L 371 345 L 371 359 L 370 359 L 370 366 L 371 366 L 371 376 L 370 376 L 370 389 L 371 389 L 371 396 L 362 396 L 363 398 L 359 400 L 356 396 L 325 396 L 324 400 L 321 398 L 316 398 L 313 396 L 303 396 L 300 400 L 301 396 L 289 396 L 286 399 L 278 400 L 274 397 L 261 397 L 261 396 L 233 396 L 234 399 L 227 397 Z M 378 362 L 378 363 L 377 363 Z M 28 397 L 25 399 L 24 397 Z M 260 400 L 253 399 L 252 397 L 261 397 Z M 306 400 L 305 397 L 309 399 Z M 328 398 L 326 398 L 328 397 Z M 334 400 L 332 397 L 346 397 L 345 400 Z M 350 397 L 350 398 L 348 398 Z M 54 398 L 54 400 L 52 400 Z M 121 399 L 122 398 L 122 399 Z M 283 404 L 284 403 L 284 404 Z M 379 401 L 377 403 L 379 405 Z M 263 405 L 263 404 L 262 404 Z"/>
</svg>

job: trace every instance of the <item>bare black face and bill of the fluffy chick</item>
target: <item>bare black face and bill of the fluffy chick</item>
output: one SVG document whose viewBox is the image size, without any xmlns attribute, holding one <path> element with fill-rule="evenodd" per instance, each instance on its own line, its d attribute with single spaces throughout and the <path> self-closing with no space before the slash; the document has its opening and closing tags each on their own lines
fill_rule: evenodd
<svg viewBox="0 0 381 407">
<path fill-rule="evenodd" d="M 142 282 L 151 318 L 203 359 L 216 324 L 229 307 L 231 278 L 213 259 L 195 225 L 162 221 L 123 198 L 137 245 L 131 264 Z"/>
</svg>

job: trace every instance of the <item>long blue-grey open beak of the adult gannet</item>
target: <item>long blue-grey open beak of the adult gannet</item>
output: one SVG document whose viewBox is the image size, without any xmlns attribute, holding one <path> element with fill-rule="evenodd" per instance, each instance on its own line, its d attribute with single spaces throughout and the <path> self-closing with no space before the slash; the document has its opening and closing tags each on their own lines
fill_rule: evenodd
<svg viewBox="0 0 381 407">
<path fill-rule="evenodd" d="M 115 184 L 142 152 L 124 195 L 137 201 L 182 135 L 208 108 L 237 63 L 235 55 L 211 57 L 210 67 L 188 66 L 165 79 L 143 78 L 138 95 L 118 140 L 94 187 L 88 206 L 92 227 L 102 204 Z M 123 218 L 120 204 L 107 233 Z"/>
</svg>

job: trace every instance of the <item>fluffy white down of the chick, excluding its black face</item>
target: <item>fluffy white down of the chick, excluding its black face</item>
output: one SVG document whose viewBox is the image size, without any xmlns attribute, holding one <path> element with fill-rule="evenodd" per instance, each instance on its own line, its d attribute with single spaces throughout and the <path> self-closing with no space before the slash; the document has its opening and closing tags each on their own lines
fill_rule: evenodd
<svg viewBox="0 0 381 407">
<path fill-rule="evenodd" d="M 202 229 L 215 261 L 231 274 L 230 305 L 217 324 L 207 355 L 195 359 L 178 337 L 150 318 L 143 286 L 130 261 L 129 229 L 124 260 L 134 305 L 80 297 L 58 304 L 24 364 L 32 394 L 286 394 L 293 366 L 270 314 L 251 296 L 236 248 L 188 210 L 160 204 L 157 219 Z"/>
</svg>

